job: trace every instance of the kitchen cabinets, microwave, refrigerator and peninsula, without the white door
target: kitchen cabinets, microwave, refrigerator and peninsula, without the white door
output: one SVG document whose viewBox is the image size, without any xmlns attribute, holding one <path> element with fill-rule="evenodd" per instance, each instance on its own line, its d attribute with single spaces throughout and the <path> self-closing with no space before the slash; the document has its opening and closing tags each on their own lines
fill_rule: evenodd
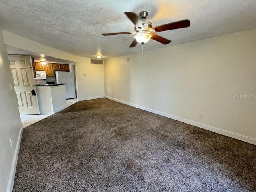
<svg viewBox="0 0 256 192">
<path fill-rule="evenodd" d="M 76 98 L 74 73 L 69 64 L 32 60 L 40 114 L 54 114 L 67 107 L 68 99 Z"/>
</svg>

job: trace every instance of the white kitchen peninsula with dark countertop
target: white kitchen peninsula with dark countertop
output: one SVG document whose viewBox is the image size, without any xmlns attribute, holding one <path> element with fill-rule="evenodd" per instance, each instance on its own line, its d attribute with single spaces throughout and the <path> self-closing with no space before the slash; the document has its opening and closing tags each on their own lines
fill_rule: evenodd
<svg viewBox="0 0 256 192">
<path fill-rule="evenodd" d="M 54 114 L 67 108 L 65 83 L 36 85 L 40 114 Z"/>
</svg>

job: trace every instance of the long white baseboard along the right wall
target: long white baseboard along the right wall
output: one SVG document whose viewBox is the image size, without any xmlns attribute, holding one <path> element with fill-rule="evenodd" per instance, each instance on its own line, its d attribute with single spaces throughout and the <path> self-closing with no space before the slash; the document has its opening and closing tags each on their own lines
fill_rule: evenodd
<svg viewBox="0 0 256 192">
<path fill-rule="evenodd" d="M 196 122 L 196 121 L 188 120 L 188 119 L 178 117 L 178 116 L 175 116 L 175 115 L 171 115 L 171 114 L 168 114 L 168 113 L 164 113 L 164 112 L 160 112 L 160 111 L 153 110 L 153 109 L 150 109 L 150 108 L 142 107 L 142 106 L 132 104 L 132 103 L 129 103 L 129 102 L 126 102 L 126 101 L 122 101 L 122 100 L 119 100 L 119 99 L 116 99 L 116 98 L 112 98 L 112 97 L 109 97 L 109 96 L 105 96 L 105 98 L 108 98 L 108 99 L 111 99 L 111 100 L 114 100 L 114 101 L 117 101 L 117 102 L 120 102 L 120 103 L 123 103 L 123 104 L 126 104 L 126 105 L 130 105 L 130 106 L 133 106 L 133 107 L 145 110 L 145 111 L 149 111 L 149 112 L 161 115 L 161 116 L 165 116 L 165 117 L 168 117 L 168 118 L 171 118 L 171 119 L 174 119 L 174 120 L 178 120 L 180 122 L 184 122 L 184 123 L 196 126 L 196 127 L 200 127 L 200 128 L 212 131 L 212 132 L 216 132 L 216 133 L 228 136 L 228 137 L 232 137 L 232 138 L 235 138 L 235 139 L 238 139 L 238 140 L 256 145 L 256 138 L 251 138 L 251 137 L 241 135 L 241 134 L 238 134 L 238 133 L 235 133 L 235 132 L 227 131 L 227 130 L 224 130 L 224 129 L 220 129 L 220 128 L 213 127 L 213 126 L 210 126 L 210 125 L 202 124 L 202 123 L 199 123 L 199 122 Z"/>
</svg>

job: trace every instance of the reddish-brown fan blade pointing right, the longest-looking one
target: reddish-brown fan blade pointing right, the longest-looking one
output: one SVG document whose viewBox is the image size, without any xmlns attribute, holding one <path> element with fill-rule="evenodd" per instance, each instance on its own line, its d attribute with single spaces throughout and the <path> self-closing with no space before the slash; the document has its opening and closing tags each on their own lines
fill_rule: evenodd
<svg viewBox="0 0 256 192">
<path fill-rule="evenodd" d="M 165 25 L 152 27 L 151 29 L 154 29 L 156 32 L 160 32 L 160 31 L 167 31 L 167 30 L 172 30 L 172 29 L 185 28 L 185 27 L 189 27 L 189 26 L 190 26 L 190 20 L 185 19 L 185 20 L 176 21 L 173 23 L 168 23 Z"/>
</svg>

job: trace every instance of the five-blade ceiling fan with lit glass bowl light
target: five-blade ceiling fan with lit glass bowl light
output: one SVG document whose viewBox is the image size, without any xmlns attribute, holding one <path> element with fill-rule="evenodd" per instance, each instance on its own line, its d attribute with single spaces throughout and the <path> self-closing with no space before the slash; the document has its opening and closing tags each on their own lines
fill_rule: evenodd
<svg viewBox="0 0 256 192">
<path fill-rule="evenodd" d="M 140 20 L 140 18 L 133 12 L 124 12 L 124 13 L 135 25 L 134 26 L 135 31 L 134 32 L 119 32 L 119 33 L 103 33 L 102 35 L 135 34 L 135 36 L 134 36 L 135 39 L 132 42 L 132 44 L 130 44 L 129 47 L 135 47 L 138 42 L 141 44 L 144 44 L 144 43 L 148 42 L 150 40 L 150 38 L 166 45 L 166 44 L 170 43 L 171 41 L 157 35 L 156 32 L 185 28 L 185 27 L 190 26 L 190 20 L 185 19 L 185 20 L 176 21 L 176 22 L 153 27 L 151 22 L 145 20 L 148 16 L 147 11 L 140 12 L 140 17 L 142 20 Z"/>
</svg>

